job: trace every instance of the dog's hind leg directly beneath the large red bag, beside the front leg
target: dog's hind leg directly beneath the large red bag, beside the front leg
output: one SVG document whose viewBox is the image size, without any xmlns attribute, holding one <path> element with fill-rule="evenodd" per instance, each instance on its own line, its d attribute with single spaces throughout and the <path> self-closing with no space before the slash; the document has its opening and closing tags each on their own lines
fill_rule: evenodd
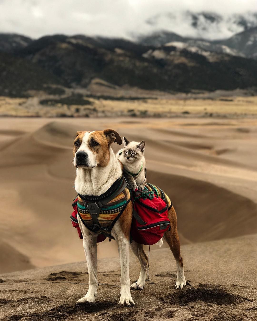
<svg viewBox="0 0 257 321">
<path fill-rule="evenodd" d="M 130 244 L 130 248 L 135 256 L 137 256 L 141 267 L 139 278 L 137 282 L 130 285 L 130 289 L 142 290 L 146 284 L 146 269 L 148 258 L 142 244 L 138 244 L 137 242 L 133 241 Z"/>
</svg>

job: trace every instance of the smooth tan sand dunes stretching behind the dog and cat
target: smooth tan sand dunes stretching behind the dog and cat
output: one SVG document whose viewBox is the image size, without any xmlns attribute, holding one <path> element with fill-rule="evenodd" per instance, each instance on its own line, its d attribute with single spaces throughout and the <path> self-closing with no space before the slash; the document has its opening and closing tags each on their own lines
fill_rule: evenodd
<svg viewBox="0 0 257 321">
<path fill-rule="evenodd" d="M 148 181 L 170 195 L 182 244 L 257 232 L 254 119 L 2 118 L 0 127 L 0 258 L 8 248 L 19 253 L 0 272 L 84 260 L 69 219 L 76 196 L 72 144 L 83 129 L 109 127 L 146 140 Z M 117 255 L 113 241 L 98 246 L 99 258 Z"/>
</svg>

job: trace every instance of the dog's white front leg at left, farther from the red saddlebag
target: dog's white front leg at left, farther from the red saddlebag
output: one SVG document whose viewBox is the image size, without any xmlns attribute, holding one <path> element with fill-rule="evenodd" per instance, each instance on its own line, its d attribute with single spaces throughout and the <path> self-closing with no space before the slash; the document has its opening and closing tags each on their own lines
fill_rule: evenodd
<svg viewBox="0 0 257 321">
<path fill-rule="evenodd" d="M 91 234 L 83 235 L 83 246 L 86 255 L 87 270 L 89 276 L 89 288 L 87 294 L 77 300 L 78 302 L 94 302 L 97 295 L 97 236 Z"/>
</svg>

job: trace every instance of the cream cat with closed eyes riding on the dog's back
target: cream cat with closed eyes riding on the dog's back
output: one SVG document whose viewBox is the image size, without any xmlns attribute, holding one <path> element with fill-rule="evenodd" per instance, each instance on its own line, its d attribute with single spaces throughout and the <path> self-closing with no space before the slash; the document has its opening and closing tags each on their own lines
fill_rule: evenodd
<svg viewBox="0 0 257 321">
<path fill-rule="evenodd" d="M 124 147 L 116 157 L 124 166 L 124 175 L 133 191 L 143 190 L 146 182 L 146 160 L 144 157 L 145 141 L 141 143 L 129 142 L 123 137 Z"/>
</svg>

